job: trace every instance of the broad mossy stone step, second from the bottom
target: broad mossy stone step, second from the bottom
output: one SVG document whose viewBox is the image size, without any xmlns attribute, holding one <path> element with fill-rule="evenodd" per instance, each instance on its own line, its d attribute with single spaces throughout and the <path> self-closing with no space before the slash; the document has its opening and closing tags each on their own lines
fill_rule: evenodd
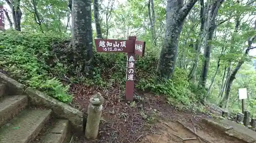
<svg viewBox="0 0 256 143">
<path fill-rule="evenodd" d="M 0 143 L 29 143 L 49 121 L 52 110 L 25 109 L 0 128 Z"/>
</svg>

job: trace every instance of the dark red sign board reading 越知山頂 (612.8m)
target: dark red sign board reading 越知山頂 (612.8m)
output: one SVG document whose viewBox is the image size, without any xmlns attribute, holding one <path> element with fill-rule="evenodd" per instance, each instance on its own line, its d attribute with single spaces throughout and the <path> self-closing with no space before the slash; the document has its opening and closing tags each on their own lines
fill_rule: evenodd
<svg viewBox="0 0 256 143">
<path fill-rule="evenodd" d="M 95 39 L 98 52 L 134 52 L 134 40 Z"/>
</svg>

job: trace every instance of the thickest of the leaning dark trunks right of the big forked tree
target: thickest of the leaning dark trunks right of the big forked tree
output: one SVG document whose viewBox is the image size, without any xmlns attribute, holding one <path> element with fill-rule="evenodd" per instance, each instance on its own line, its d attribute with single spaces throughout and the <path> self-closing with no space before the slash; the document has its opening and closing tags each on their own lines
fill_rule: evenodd
<svg viewBox="0 0 256 143">
<path fill-rule="evenodd" d="M 207 82 L 207 74 L 208 74 L 208 68 L 209 68 L 209 61 L 210 61 L 210 53 L 211 53 L 211 43 L 208 41 L 212 41 L 214 37 L 214 32 L 216 29 L 216 16 L 218 13 L 218 10 L 221 6 L 221 4 L 224 2 L 224 0 L 217 0 L 211 5 L 211 10 L 208 15 L 208 22 L 210 25 L 206 25 L 206 39 L 204 41 L 204 62 L 202 67 L 202 72 L 200 76 L 199 84 L 202 86 L 202 88 L 205 88 L 205 84 Z M 209 27 L 209 29 L 208 29 Z"/>
</svg>

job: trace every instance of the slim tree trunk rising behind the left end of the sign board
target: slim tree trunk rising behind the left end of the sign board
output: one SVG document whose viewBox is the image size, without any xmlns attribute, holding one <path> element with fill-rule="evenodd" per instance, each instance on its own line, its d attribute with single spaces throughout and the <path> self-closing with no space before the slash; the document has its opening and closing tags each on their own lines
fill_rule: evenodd
<svg viewBox="0 0 256 143">
<path fill-rule="evenodd" d="M 102 39 L 101 28 L 100 28 L 100 19 L 99 19 L 99 2 L 98 0 L 93 0 L 94 8 L 94 22 L 96 25 L 96 38 Z"/>
</svg>

